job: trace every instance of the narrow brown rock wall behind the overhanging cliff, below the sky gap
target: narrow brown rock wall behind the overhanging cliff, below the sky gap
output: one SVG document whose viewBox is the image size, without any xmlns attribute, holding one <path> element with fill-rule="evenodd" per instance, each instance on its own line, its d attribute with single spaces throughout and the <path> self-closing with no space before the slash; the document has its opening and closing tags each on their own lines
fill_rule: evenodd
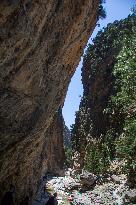
<svg viewBox="0 0 136 205">
<path fill-rule="evenodd" d="M 46 156 L 45 163 L 47 162 L 47 165 L 43 167 L 46 167 L 48 172 L 58 175 L 64 174 L 65 152 L 63 147 L 63 125 L 62 110 L 59 109 L 54 117 L 53 123 L 46 131 L 45 139 L 44 156 Z"/>
</svg>

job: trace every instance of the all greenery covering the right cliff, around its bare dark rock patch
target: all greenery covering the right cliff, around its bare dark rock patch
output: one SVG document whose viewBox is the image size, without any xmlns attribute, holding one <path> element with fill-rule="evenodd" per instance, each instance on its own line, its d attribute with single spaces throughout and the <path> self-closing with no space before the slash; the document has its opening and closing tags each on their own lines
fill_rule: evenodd
<svg viewBox="0 0 136 205">
<path fill-rule="evenodd" d="M 93 43 L 94 45 L 89 45 L 84 56 L 84 96 L 72 128 L 73 139 L 76 141 L 75 149 L 80 151 L 81 144 L 87 142 L 85 168 L 88 171 L 103 173 L 111 160 L 119 157 L 126 161 L 124 172 L 130 175 L 136 173 L 135 13 L 124 20 L 109 24 L 98 33 Z M 89 92 L 96 76 L 101 75 L 99 66 L 105 64 L 109 57 L 114 59 L 113 63 L 106 65 L 107 71 L 102 70 L 105 72 L 104 80 L 109 75 L 113 76 L 112 92 L 102 111 L 103 116 L 109 119 L 109 124 L 105 127 L 105 133 L 95 136 L 91 106 L 99 102 L 99 96 L 90 95 Z"/>
</svg>

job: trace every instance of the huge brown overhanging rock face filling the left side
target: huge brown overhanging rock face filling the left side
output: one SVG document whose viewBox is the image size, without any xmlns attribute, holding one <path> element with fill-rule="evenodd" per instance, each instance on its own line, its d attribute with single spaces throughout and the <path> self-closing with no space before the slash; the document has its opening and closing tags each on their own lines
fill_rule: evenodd
<svg viewBox="0 0 136 205">
<path fill-rule="evenodd" d="M 33 196 L 48 170 L 52 152 L 46 131 L 54 127 L 55 112 L 97 21 L 98 3 L 0 1 L 0 190 L 13 183 L 19 199 Z"/>
</svg>

